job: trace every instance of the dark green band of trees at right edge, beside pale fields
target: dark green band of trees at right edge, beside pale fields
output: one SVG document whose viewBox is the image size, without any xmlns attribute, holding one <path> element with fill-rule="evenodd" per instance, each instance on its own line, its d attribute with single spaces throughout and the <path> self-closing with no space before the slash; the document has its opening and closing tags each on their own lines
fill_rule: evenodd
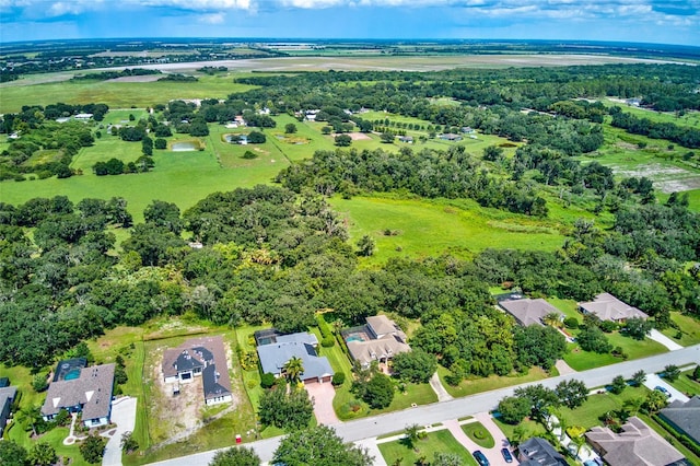
<svg viewBox="0 0 700 466">
<path fill-rule="evenodd" d="M 652 139 L 666 139 L 684 148 L 700 148 L 700 129 L 689 128 L 668 121 L 652 121 L 625 113 L 620 107 L 610 109 L 611 125 L 634 135 L 648 136 Z"/>
</svg>

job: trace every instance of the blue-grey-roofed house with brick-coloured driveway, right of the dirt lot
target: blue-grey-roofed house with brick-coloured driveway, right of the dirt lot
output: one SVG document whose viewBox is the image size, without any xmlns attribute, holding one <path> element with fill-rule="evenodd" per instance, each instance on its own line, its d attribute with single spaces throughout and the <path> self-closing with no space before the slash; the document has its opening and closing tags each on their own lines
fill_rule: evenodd
<svg viewBox="0 0 700 466">
<path fill-rule="evenodd" d="M 258 345 L 258 358 L 262 373 L 273 374 L 281 377 L 284 373 L 284 364 L 292 359 L 302 360 L 301 380 L 304 384 L 326 383 L 332 380 L 334 370 L 325 356 L 316 353 L 318 340 L 315 335 L 302 331 L 291 335 L 277 335 L 275 340 L 264 345 Z"/>
</svg>

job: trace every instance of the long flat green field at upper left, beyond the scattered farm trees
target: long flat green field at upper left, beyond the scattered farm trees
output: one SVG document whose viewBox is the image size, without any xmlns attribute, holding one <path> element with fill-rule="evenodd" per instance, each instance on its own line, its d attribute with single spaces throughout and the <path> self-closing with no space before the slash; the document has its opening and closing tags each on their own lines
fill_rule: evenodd
<svg viewBox="0 0 700 466">
<path fill-rule="evenodd" d="M 32 81 L 21 80 L 30 84 Z M 225 98 L 235 92 L 255 86 L 233 82 L 233 75 L 202 75 L 198 82 L 117 82 L 117 81 L 59 81 L 31 85 L 3 85 L 0 113 L 20 112 L 23 105 L 107 104 L 110 108 L 145 108 L 167 104 L 175 98 Z"/>
</svg>

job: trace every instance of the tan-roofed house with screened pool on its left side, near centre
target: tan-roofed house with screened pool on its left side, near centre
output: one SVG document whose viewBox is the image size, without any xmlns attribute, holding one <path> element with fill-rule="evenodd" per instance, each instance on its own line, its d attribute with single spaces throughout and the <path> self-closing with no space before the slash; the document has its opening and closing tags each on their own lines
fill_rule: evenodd
<svg viewBox="0 0 700 466">
<path fill-rule="evenodd" d="M 364 369 L 373 361 L 386 363 L 396 354 L 408 352 L 406 334 L 385 315 L 366 317 L 366 325 L 342 331 L 348 352 Z"/>
</svg>

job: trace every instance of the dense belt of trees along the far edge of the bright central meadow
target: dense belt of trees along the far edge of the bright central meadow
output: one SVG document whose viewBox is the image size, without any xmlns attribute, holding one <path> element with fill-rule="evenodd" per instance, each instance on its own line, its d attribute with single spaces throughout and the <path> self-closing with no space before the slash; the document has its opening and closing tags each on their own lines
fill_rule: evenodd
<svg viewBox="0 0 700 466">
<path fill-rule="evenodd" d="M 284 168 L 277 180 L 296 193 L 311 188 L 326 196 L 351 196 L 404 190 L 428 198 L 472 198 L 482 206 L 529 215 L 548 212 L 545 199 L 529 184 L 489 173 L 464 147 L 418 152 L 408 147 L 398 152 L 316 151 L 310 163 Z"/>
</svg>

